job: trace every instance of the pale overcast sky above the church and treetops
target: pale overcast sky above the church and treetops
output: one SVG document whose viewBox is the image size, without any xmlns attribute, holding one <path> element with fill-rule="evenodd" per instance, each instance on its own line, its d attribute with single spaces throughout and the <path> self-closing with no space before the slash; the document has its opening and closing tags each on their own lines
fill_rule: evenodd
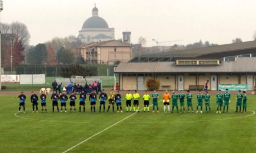
<svg viewBox="0 0 256 153">
<path fill-rule="evenodd" d="M 201 39 L 229 44 L 232 39 L 252 41 L 256 30 L 255 0 L 3 0 L 1 22 L 20 21 L 27 25 L 30 44 L 55 36 L 78 36 L 94 3 L 115 39 L 132 32 L 131 41 L 143 36 L 147 46 L 189 44 Z"/>
</svg>

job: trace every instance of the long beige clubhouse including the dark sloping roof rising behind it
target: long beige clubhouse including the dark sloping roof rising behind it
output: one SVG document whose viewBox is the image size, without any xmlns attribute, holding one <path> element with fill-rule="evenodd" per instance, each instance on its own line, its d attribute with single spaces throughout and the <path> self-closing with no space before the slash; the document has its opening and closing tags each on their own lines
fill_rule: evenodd
<svg viewBox="0 0 256 153">
<path fill-rule="evenodd" d="M 133 58 L 120 63 L 121 90 L 147 90 L 146 80 L 156 78 L 160 90 L 218 90 L 219 84 L 247 84 L 254 90 L 256 83 L 256 41 L 176 50 Z"/>
</svg>

